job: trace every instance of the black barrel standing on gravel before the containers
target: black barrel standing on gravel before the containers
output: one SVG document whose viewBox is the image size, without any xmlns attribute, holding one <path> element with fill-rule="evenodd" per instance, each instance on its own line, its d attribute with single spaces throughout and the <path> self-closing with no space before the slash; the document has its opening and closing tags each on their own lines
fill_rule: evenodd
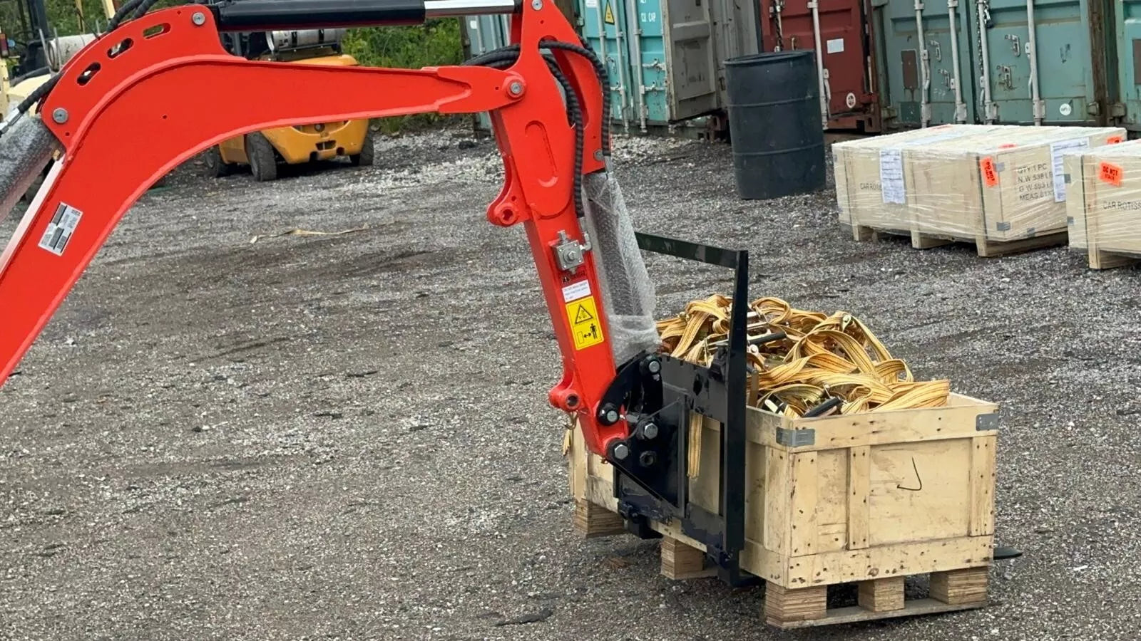
<svg viewBox="0 0 1141 641">
<path fill-rule="evenodd" d="M 725 75 L 737 195 L 764 200 L 823 189 L 827 178 L 814 52 L 730 58 Z"/>
</svg>

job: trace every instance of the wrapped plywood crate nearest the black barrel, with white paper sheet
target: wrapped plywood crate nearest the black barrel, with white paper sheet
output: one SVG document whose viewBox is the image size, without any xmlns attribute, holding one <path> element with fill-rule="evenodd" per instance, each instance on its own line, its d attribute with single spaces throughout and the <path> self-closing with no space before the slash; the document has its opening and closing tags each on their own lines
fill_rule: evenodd
<svg viewBox="0 0 1141 641">
<path fill-rule="evenodd" d="M 911 212 L 903 196 L 906 187 L 900 155 L 933 141 L 980 135 L 994 129 L 1000 127 L 942 124 L 833 144 L 833 172 L 841 224 L 911 229 Z"/>
</svg>

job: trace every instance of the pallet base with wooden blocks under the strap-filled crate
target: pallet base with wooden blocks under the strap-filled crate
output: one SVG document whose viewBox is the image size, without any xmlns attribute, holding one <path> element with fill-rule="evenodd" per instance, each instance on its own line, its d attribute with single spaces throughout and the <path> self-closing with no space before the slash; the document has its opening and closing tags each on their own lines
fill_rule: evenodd
<svg viewBox="0 0 1141 641">
<path fill-rule="evenodd" d="M 617 514 L 600 505 L 575 510 L 575 529 L 583 536 L 615 536 L 625 534 L 616 527 Z M 621 521 L 621 518 L 618 518 Z M 655 524 L 656 525 L 656 524 Z M 661 574 L 674 579 L 717 576 L 717 568 L 705 552 L 674 538 L 669 528 L 655 527 L 662 533 Z M 600 534 L 605 533 L 605 534 Z M 696 542 L 693 542 L 696 543 Z M 908 599 L 905 586 L 908 578 L 928 577 L 929 594 Z M 783 587 L 766 582 L 762 615 L 764 623 L 780 630 L 860 623 L 884 618 L 911 617 L 984 608 L 989 605 L 989 566 L 962 568 L 925 575 L 888 576 L 849 584 Z M 830 607 L 830 587 L 853 587 L 856 606 Z"/>
</svg>

